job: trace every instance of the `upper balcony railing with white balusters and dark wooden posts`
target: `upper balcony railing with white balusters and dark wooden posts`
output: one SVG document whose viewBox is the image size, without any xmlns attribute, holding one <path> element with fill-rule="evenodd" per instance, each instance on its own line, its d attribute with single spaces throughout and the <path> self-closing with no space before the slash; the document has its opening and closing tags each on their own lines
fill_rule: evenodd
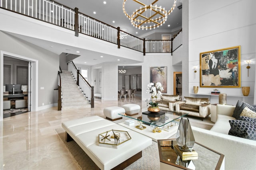
<svg viewBox="0 0 256 170">
<path fill-rule="evenodd" d="M 142 53 L 172 53 L 182 45 L 182 31 L 171 40 L 145 40 L 52 0 L 0 0 L 0 8 L 45 21 Z"/>
</svg>

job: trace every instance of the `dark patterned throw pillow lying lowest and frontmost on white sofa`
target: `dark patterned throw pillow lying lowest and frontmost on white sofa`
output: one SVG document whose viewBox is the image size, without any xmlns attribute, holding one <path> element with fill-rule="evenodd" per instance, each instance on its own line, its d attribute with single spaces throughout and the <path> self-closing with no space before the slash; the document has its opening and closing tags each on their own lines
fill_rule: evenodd
<svg viewBox="0 0 256 170">
<path fill-rule="evenodd" d="M 229 120 L 229 123 L 231 128 L 228 135 L 256 141 L 256 124 L 241 120 Z"/>
</svg>

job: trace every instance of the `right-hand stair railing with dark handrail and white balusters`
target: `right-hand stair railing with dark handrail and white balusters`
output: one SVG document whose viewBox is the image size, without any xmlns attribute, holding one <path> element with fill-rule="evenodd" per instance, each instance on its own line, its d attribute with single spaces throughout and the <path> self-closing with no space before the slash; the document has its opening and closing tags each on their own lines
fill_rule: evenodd
<svg viewBox="0 0 256 170">
<path fill-rule="evenodd" d="M 81 89 L 82 94 L 84 94 L 86 100 L 90 102 L 91 108 L 94 108 L 94 86 L 91 86 L 88 81 L 82 76 L 80 70 L 76 68 L 73 61 L 70 61 L 68 63 L 68 70 L 72 72 L 76 84 Z"/>
</svg>

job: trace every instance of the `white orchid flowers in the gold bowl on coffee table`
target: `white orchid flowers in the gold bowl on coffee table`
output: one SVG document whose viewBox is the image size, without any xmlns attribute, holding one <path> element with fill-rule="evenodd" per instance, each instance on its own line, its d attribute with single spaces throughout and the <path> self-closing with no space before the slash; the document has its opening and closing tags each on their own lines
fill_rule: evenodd
<svg viewBox="0 0 256 170">
<path fill-rule="evenodd" d="M 151 98 L 153 101 L 154 99 L 155 100 L 157 99 L 158 94 L 160 94 L 160 95 L 162 94 L 163 90 L 164 90 L 164 88 L 162 87 L 162 84 L 160 82 L 157 82 L 156 84 L 149 83 L 146 92 L 151 93 Z M 158 103 L 156 103 L 156 102 L 150 102 L 149 104 L 154 107 L 157 107 L 157 105 L 158 105 Z"/>
</svg>

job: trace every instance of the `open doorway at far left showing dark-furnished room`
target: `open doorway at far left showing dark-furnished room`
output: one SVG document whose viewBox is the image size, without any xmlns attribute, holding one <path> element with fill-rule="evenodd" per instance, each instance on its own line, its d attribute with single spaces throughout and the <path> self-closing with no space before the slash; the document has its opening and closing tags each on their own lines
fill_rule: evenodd
<svg viewBox="0 0 256 170">
<path fill-rule="evenodd" d="M 30 61 L 4 56 L 3 118 L 30 111 Z"/>
</svg>

